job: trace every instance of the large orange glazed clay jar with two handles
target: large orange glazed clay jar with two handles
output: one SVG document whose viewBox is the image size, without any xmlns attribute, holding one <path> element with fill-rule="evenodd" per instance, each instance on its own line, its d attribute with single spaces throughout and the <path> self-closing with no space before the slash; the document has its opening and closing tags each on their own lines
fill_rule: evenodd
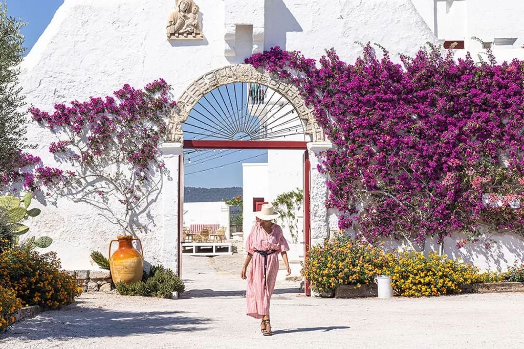
<svg viewBox="0 0 524 349">
<path fill-rule="evenodd" d="M 138 240 L 140 252 L 133 247 L 133 241 Z M 111 245 L 118 241 L 118 249 L 111 255 Z M 131 284 L 142 279 L 144 270 L 144 250 L 142 242 L 130 235 L 120 235 L 118 240 L 112 240 L 109 244 L 109 262 L 113 283 L 123 282 Z"/>
</svg>

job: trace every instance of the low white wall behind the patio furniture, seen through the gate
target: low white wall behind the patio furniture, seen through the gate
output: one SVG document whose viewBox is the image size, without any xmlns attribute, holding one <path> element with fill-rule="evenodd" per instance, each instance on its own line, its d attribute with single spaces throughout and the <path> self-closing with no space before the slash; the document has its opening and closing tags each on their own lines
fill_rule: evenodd
<svg viewBox="0 0 524 349">
<path fill-rule="evenodd" d="M 220 224 L 226 228 L 226 237 L 230 238 L 229 206 L 223 201 L 184 202 L 184 227 L 191 224 Z"/>
</svg>

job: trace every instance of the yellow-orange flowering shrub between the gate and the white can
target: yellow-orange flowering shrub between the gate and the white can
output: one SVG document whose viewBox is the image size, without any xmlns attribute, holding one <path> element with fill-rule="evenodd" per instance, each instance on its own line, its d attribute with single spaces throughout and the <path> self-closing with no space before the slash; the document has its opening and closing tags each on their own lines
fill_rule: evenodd
<svg viewBox="0 0 524 349">
<path fill-rule="evenodd" d="M 312 246 L 302 274 L 318 292 L 339 285 L 370 284 L 382 273 L 386 254 L 380 247 L 337 235 L 323 246 Z"/>
</svg>

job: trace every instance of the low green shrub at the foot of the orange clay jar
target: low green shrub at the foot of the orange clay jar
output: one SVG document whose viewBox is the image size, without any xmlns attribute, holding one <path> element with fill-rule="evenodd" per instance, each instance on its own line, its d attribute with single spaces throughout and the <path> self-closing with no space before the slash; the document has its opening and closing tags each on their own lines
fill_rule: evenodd
<svg viewBox="0 0 524 349">
<path fill-rule="evenodd" d="M 161 265 L 152 266 L 144 280 L 133 284 L 116 283 L 116 290 L 122 296 L 143 296 L 170 298 L 171 292 L 183 292 L 182 280 L 171 269 Z"/>
</svg>

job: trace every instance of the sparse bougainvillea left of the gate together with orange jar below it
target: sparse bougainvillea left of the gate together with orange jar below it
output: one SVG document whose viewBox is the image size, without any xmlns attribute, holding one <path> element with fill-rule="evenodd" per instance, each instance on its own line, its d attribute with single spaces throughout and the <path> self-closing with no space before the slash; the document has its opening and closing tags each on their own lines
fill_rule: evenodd
<svg viewBox="0 0 524 349">
<path fill-rule="evenodd" d="M 167 133 L 168 116 L 176 103 L 170 100 L 170 86 L 162 79 L 143 90 L 124 85 L 114 96 L 90 98 L 86 102 L 57 104 L 54 112 L 32 108 L 40 125 L 57 136 L 49 151 L 71 170 L 39 167 L 37 176 L 51 188 L 48 196 L 66 196 L 86 202 L 99 215 L 118 227 L 110 243 L 109 259 L 113 282 L 141 279 L 143 251 L 137 234 L 146 231 L 140 213 L 148 197 L 159 189 L 165 164 L 159 146 Z M 118 249 L 111 254 L 113 242 Z"/>
</svg>

